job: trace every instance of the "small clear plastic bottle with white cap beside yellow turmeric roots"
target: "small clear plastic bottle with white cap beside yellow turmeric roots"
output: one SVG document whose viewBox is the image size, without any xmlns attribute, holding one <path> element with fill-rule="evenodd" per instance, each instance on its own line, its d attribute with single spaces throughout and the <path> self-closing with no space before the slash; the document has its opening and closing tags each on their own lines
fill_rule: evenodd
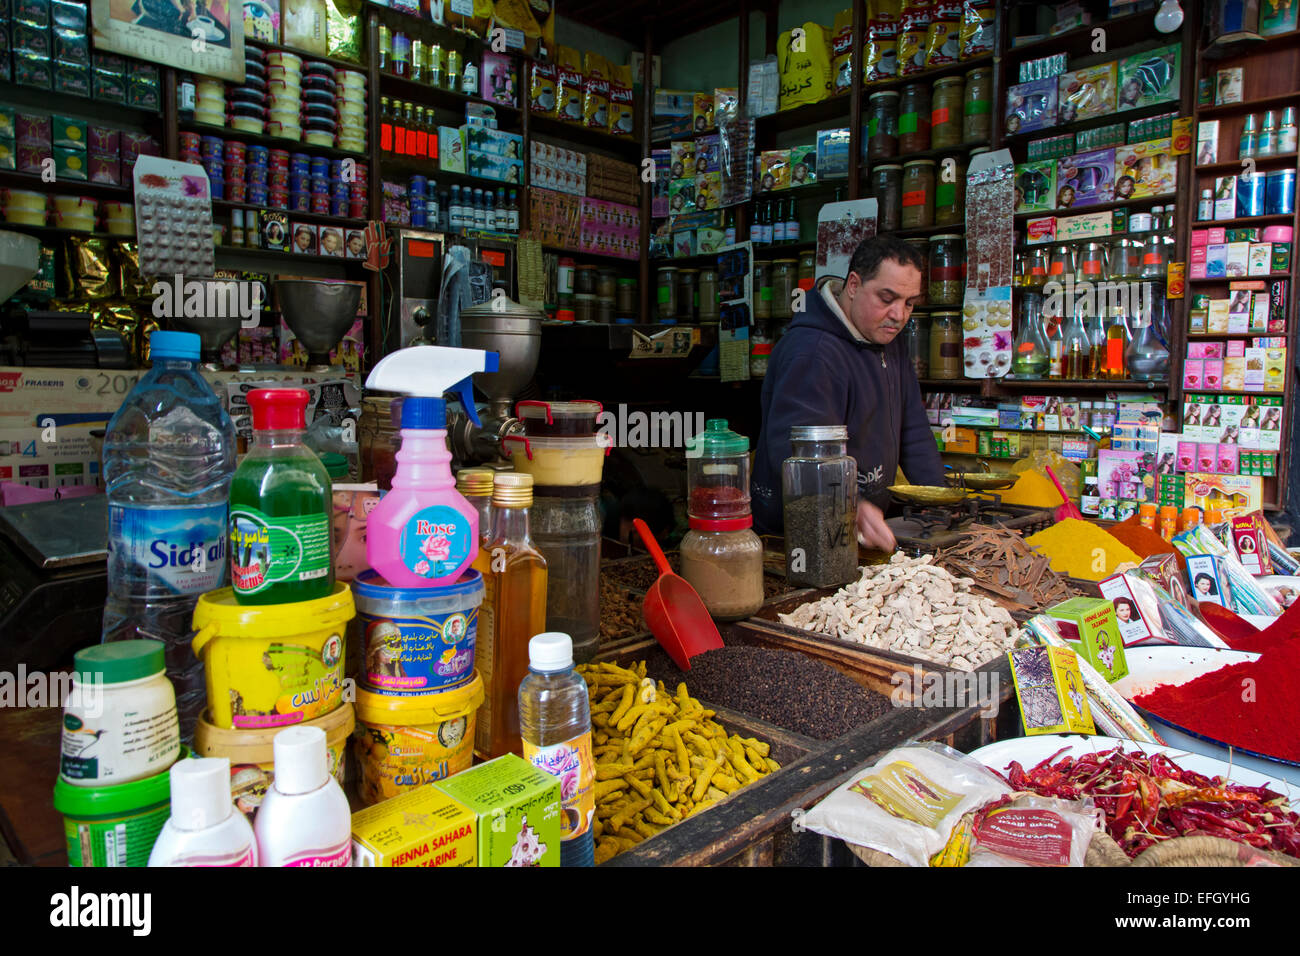
<svg viewBox="0 0 1300 956">
<path fill-rule="evenodd" d="M 586 682 L 573 670 L 573 640 L 540 633 L 528 643 L 528 676 L 519 685 L 524 758 L 560 780 L 560 866 L 594 864 L 595 758 Z"/>
</svg>

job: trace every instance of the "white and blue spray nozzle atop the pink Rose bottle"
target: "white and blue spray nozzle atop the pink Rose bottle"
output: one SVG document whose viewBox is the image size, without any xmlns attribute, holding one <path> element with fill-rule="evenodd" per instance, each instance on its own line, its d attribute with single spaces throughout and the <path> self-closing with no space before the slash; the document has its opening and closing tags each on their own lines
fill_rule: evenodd
<svg viewBox="0 0 1300 956">
<path fill-rule="evenodd" d="M 442 397 L 448 392 L 465 406 L 469 420 L 482 425 L 474 408 L 473 376 L 498 368 L 497 352 L 416 345 L 380 359 L 365 378 L 365 388 L 411 395 L 402 403 L 402 428 L 445 428 L 447 406 Z"/>
</svg>

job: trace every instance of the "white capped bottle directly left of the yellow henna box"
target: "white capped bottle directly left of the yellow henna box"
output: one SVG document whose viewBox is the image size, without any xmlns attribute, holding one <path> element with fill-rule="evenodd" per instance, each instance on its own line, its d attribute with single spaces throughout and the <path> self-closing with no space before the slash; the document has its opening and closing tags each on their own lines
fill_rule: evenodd
<svg viewBox="0 0 1300 956">
<path fill-rule="evenodd" d="M 352 814 L 329 771 L 325 731 L 286 727 L 272 741 L 276 780 L 257 809 L 260 866 L 348 866 Z"/>
</svg>

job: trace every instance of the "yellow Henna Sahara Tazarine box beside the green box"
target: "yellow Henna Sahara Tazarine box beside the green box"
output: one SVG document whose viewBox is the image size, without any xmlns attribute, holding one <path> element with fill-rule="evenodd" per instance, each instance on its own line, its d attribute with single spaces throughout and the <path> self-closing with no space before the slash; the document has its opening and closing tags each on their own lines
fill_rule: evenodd
<svg viewBox="0 0 1300 956">
<path fill-rule="evenodd" d="M 352 814 L 352 866 L 476 866 L 478 818 L 434 787 Z"/>
</svg>

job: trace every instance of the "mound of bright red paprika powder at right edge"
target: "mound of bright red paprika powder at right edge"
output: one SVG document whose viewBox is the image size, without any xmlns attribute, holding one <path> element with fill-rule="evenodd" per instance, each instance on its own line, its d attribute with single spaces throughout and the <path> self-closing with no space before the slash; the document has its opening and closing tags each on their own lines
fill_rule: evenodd
<svg viewBox="0 0 1300 956">
<path fill-rule="evenodd" d="M 1221 635 L 1234 650 L 1257 652 L 1260 659 L 1187 684 L 1162 684 L 1134 704 L 1225 744 L 1300 761 L 1300 601 L 1264 631 L 1226 631 Z"/>
</svg>

